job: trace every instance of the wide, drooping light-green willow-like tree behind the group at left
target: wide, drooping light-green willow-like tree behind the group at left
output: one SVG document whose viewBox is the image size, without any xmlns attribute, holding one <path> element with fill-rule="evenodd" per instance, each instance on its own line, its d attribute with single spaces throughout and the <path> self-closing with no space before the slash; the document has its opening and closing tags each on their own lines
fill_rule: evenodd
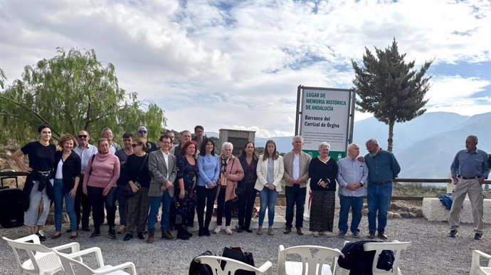
<svg viewBox="0 0 491 275">
<path fill-rule="evenodd" d="M 58 48 L 57 53 L 26 66 L 21 79 L 0 93 L 0 140 L 26 142 L 36 137 L 40 124 L 50 126 L 55 138 L 79 130 L 99 137 L 105 127 L 120 137 L 147 125 L 149 138 L 157 139 L 164 111 L 120 88 L 115 66 L 98 61 L 93 50 Z"/>
</svg>

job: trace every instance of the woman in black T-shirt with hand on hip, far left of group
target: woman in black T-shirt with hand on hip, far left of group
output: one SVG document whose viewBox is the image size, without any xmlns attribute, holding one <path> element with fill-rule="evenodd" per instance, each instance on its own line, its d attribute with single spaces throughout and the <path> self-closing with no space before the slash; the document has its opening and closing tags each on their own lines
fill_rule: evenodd
<svg viewBox="0 0 491 275">
<path fill-rule="evenodd" d="M 50 199 L 53 196 L 53 166 L 55 163 L 56 146 L 50 143 L 51 128 L 41 125 L 38 128 L 39 140 L 29 142 L 14 152 L 12 159 L 17 166 L 29 174 L 22 190 L 24 205 L 24 224 L 31 234 L 37 234 L 41 241 L 46 240 L 43 232 L 48 217 Z M 28 155 L 29 165 L 21 160 Z M 43 211 L 39 213 L 42 202 Z"/>
</svg>

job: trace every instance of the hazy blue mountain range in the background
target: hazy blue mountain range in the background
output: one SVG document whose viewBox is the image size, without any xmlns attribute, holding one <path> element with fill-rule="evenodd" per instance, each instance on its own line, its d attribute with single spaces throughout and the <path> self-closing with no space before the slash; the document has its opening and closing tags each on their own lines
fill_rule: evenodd
<svg viewBox="0 0 491 275">
<path fill-rule="evenodd" d="M 387 147 L 389 126 L 376 118 L 354 123 L 353 140 L 366 154 L 364 142 L 376 138 L 382 148 Z M 218 137 L 218 133 L 206 132 Z M 394 125 L 394 155 L 401 165 L 399 177 L 447 178 L 450 164 L 458 150 L 465 149 L 465 137 L 477 135 L 477 148 L 491 152 L 491 113 L 471 117 L 456 113 L 425 113 L 406 123 Z M 292 137 L 256 137 L 255 145 L 264 147 L 266 140 L 275 140 L 278 151 L 292 148 Z"/>
</svg>

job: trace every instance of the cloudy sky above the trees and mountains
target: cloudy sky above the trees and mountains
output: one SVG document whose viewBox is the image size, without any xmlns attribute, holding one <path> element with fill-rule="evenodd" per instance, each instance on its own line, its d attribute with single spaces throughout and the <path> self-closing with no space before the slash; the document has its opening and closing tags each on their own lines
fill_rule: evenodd
<svg viewBox="0 0 491 275">
<path fill-rule="evenodd" d="M 57 47 L 94 49 L 174 130 L 292 135 L 298 85 L 351 88 L 351 60 L 394 37 L 407 61 L 434 58 L 429 112 L 491 111 L 489 0 L 0 0 L 9 82 Z"/>
</svg>

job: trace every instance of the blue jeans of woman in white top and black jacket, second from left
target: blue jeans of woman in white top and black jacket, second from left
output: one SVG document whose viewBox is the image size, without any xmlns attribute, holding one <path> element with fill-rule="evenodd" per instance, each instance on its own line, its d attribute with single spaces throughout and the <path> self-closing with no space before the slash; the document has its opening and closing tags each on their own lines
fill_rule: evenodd
<svg viewBox="0 0 491 275">
<path fill-rule="evenodd" d="M 55 201 L 55 230 L 61 232 L 61 212 L 63 212 L 63 197 L 65 197 L 65 208 L 70 218 L 70 229 L 77 231 L 77 216 L 75 215 L 75 197 L 70 197 L 70 192 L 63 194 L 63 180 L 55 179 L 53 185 Z"/>
</svg>

